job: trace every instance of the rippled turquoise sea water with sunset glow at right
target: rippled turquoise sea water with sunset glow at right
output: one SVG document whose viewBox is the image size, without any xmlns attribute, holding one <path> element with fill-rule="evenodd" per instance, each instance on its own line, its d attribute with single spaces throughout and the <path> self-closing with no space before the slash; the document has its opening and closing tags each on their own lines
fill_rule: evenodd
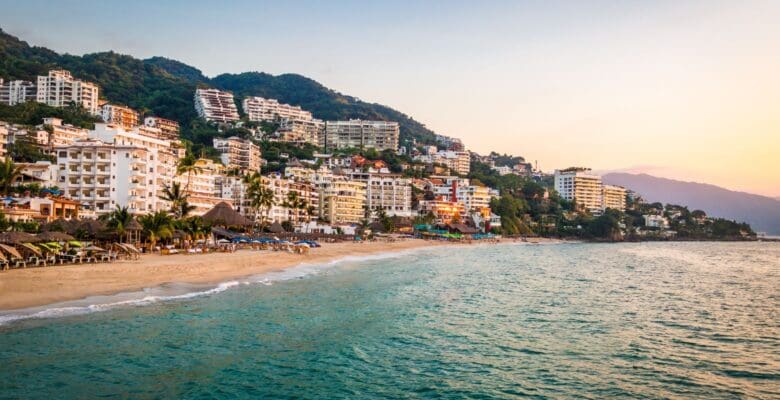
<svg viewBox="0 0 780 400">
<path fill-rule="evenodd" d="M 0 398 L 780 397 L 777 244 L 440 248 L 252 281 L 6 318 Z"/>
</svg>

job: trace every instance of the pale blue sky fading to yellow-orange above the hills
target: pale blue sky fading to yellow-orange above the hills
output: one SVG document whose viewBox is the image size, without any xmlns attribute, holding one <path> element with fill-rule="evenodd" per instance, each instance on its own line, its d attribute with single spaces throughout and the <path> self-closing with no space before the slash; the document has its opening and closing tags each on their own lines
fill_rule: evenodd
<svg viewBox="0 0 780 400">
<path fill-rule="evenodd" d="M 299 73 L 473 151 L 780 197 L 780 1 L 0 0 L 84 54 Z"/>
</svg>

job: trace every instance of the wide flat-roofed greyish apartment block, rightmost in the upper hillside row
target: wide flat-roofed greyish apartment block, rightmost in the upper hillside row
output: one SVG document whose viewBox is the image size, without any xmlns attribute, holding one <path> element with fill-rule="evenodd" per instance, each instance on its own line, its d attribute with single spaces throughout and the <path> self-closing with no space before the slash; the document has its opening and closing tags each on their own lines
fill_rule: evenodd
<svg viewBox="0 0 780 400">
<path fill-rule="evenodd" d="M 325 148 L 374 148 L 382 150 L 398 149 L 399 127 L 397 122 L 328 121 L 325 123 Z"/>
</svg>

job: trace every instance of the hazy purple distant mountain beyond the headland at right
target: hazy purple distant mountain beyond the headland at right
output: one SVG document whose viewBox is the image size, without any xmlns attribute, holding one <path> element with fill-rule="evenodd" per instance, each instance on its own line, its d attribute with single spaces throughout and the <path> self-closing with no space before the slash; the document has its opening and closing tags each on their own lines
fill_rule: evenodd
<svg viewBox="0 0 780 400">
<path fill-rule="evenodd" d="M 780 235 L 780 201 L 771 197 L 647 174 L 609 173 L 602 180 L 631 189 L 648 202 L 687 205 L 710 216 L 747 222 L 756 232 Z"/>
</svg>

